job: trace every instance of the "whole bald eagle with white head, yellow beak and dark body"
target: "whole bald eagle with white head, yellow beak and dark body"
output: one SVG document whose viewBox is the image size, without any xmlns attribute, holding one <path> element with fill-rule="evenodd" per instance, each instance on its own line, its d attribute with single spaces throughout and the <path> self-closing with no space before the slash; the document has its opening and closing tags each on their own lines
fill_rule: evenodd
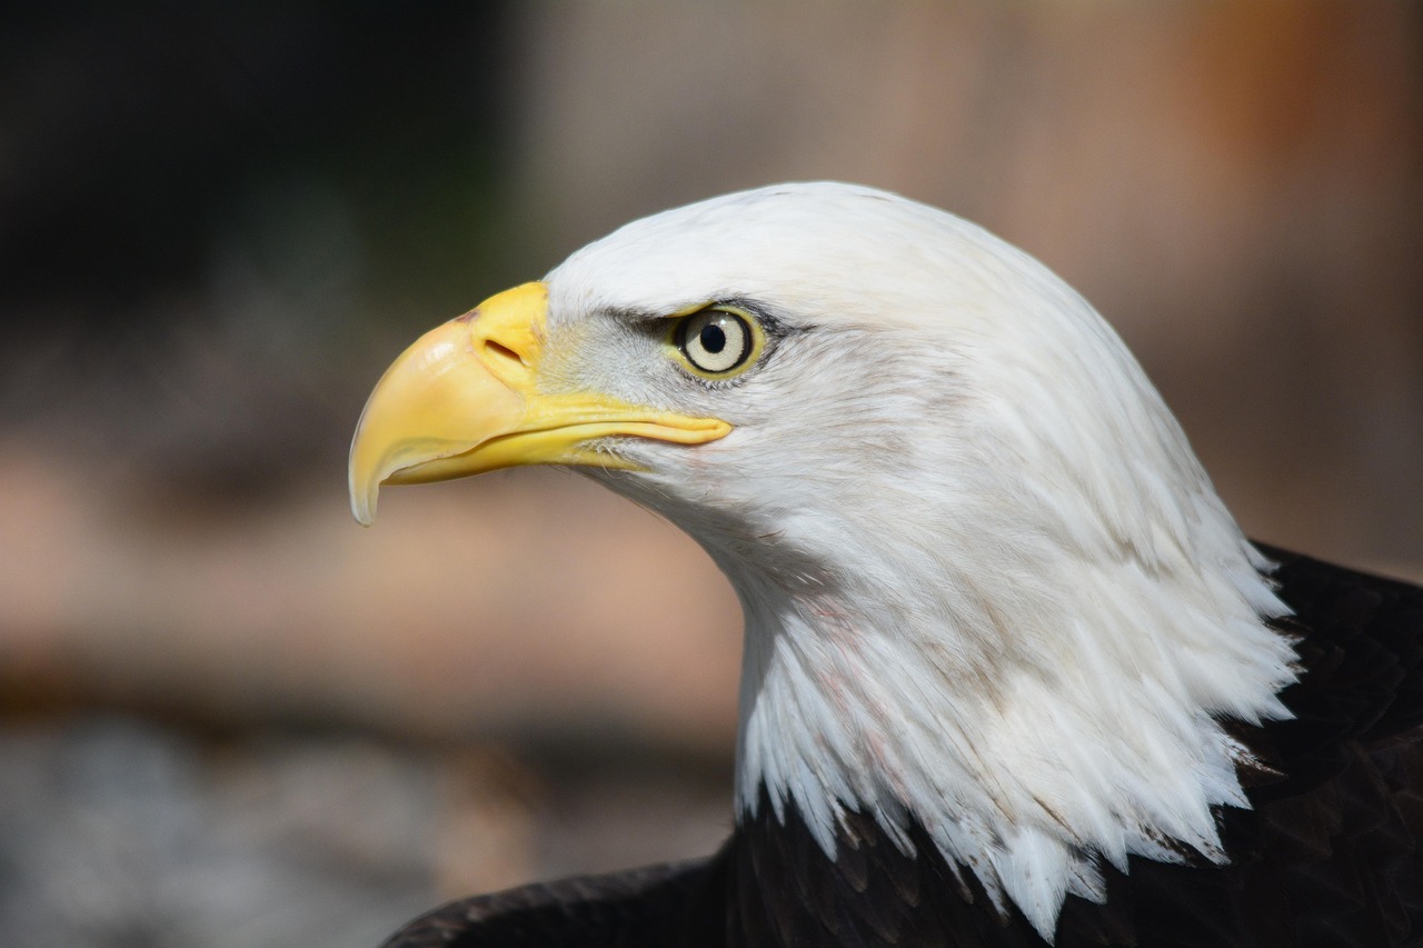
<svg viewBox="0 0 1423 948">
<path fill-rule="evenodd" d="M 1423 944 L 1423 589 L 1249 542 L 980 228 L 840 184 L 629 223 L 397 359 L 353 510 L 519 464 L 736 588 L 736 830 L 390 945 Z"/>
</svg>

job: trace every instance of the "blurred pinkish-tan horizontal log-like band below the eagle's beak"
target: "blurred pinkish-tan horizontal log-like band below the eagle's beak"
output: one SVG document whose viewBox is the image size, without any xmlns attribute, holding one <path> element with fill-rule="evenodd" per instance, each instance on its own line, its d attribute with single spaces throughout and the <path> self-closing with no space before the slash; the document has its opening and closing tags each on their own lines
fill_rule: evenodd
<svg viewBox="0 0 1423 948">
<path fill-rule="evenodd" d="M 333 478 L 334 480 L 334 478 Z M 558 732 L 724 756 L 736 598 L 684 535 L 556 471 L 242 510 L 105 495 L 9 453 L 7 693 L 339 722 L 424 739 Z"/>
</svg>

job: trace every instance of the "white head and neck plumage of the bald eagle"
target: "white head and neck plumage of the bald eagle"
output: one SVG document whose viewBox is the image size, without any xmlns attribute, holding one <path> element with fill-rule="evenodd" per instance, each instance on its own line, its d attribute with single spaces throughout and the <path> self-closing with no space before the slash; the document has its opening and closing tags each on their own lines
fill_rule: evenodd
<svg viewBox="0 0 1423 948">
<path fill-rule="evenodd" d="M 1224 860 L 1211 807 L 1247 806 L 1245 752 L 1217 722 L 1286 716 L 1286 609 L 1086 300 L 972 223 L 835 184 L 636 221 L 548 279 L 555 327 L 713 300 L 791 327 L 736 386 L 626 393 L 729 437 L 622 441 L 650 473 L 595 473 L 740 594 L 743 811 L 764 784 L 827 853 L 845 809 L 905 847 L 912 814 L 1049 939 L 1067 892 L 1104 898 L 1100 860 Z"/>
</svg>

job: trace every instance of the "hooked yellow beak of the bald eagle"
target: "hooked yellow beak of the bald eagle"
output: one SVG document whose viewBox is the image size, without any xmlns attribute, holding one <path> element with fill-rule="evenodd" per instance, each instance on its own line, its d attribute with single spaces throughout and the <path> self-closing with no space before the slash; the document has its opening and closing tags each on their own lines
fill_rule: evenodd
<svg viewBox="0 0 1423 948">
<path fill-rule="evenodd" d="M 366 401 L 351 440 L 351 512 L 376 520 L 381 484 L 424 484 L 518 464 L 630 467 L 588 446 L 615 434 L 704 444 L 731 426 L 596 393 L 545 393 L 548 288 L 491 296 L 407 349 Z"/>
</svg>

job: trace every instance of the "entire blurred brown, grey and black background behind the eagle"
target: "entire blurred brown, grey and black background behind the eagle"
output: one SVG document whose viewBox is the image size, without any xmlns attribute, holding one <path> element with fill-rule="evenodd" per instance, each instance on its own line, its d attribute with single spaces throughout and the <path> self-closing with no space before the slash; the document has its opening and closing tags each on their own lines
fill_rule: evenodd
<svg viewBox="0 0 1423 948">
<path fill-rule="evenodd" d="M 424 329 L 811 178 L 1042 258 L 1252 535 L 1423 578 L 1417 4 L 10 3 L 0 944 L 374 945 L 710 851 L 700 551 L 558 471 L 363 531 L 346 446 Z"/>
</svg>

